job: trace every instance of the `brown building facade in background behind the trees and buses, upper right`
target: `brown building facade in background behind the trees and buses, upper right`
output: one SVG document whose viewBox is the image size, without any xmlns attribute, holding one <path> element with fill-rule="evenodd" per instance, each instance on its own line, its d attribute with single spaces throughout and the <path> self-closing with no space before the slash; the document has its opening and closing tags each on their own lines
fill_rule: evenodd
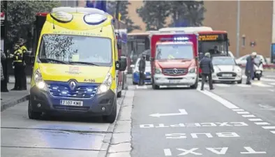
<svg viewBox="0 0 275 157">
<path fill-rule="evenodd" d="M 275 18 L 273 3 L 240 1 L 239 57 L 251 52 L 270 57 L 271 43 L 275 42 L 275 32 L 272 31 L 273 16 Z M 145 30 L 144 22 L 135 11 L 140 6 L 142 1 L 131 1 L 131 5 L 128 6 L 129 17 L 142 29 L 133 32 Z M 203 24 L 213 29 L 228 31 L 229 50 L 236 55 L 237 1 L 205 1 L 205 8 L 207 12 Z"/>
</svg>

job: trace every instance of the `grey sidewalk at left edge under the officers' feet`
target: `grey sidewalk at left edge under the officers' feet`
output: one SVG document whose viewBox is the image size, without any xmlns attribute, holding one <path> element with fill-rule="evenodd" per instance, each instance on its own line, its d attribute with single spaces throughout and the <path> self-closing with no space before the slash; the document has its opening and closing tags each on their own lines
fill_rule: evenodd
<svg viewBox="0 0 275 157">
<path fill-rule="evenodd" d="M 8 83 L 9 92 L 1 92 L 1 112 L 9 107 L 13 107 L 18 103 L 29 100 L 29 88 L 31 84 L 31 77 L 27 77 L 27 90 L 26 91 L 10 91 L 15 84 L 15 77 L 10 75 L 10 82 Z"/>
</svg>

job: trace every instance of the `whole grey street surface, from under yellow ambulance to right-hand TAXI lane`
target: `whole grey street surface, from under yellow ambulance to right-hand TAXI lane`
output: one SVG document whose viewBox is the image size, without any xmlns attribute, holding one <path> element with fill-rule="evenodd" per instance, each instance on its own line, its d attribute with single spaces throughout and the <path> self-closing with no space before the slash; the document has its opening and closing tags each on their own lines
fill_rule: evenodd
<svg viewBox="0 0 275 157">
<path fill-rule="evenodd" d="M 114 124 L 96 117 L 31 120 L 21 103 L 1 112 L 1 156 L 274 157 L 274 76 L 265 73 L 250 86 L 245 79 L 214 84 L 214 91 L 129 85 Z"/>
</svg>

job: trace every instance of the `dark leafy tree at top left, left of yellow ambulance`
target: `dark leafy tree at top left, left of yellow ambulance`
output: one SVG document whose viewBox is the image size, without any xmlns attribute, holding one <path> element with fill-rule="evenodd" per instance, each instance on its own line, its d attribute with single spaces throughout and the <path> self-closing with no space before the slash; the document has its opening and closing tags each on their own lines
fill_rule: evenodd
<svg viewBox="0 0 275 157">
<path fill-rule="evenodd" d="M 28 39 L 32 26 L 36 20 L 36 13 L 50 12 L 54 7 L 60 6 L 59 1 L 8 1 L 8 8 L 1 10 L 8 16 L 8 45 L 18 38 Z"/>
</svg>

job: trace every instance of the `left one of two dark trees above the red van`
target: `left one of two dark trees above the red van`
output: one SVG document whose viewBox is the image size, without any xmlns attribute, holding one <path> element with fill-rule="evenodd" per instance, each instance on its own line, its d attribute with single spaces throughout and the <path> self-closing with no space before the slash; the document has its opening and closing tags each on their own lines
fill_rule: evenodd
<svg viewBox="0 0 275 157">
<path fill-rule="evenodd" d="M 136 11 L 146 23 L 147 30 L 158 30 L 165 26 L 170 15 L 170 1 L 143 1 L 143 6 Z"/>
</svg>

